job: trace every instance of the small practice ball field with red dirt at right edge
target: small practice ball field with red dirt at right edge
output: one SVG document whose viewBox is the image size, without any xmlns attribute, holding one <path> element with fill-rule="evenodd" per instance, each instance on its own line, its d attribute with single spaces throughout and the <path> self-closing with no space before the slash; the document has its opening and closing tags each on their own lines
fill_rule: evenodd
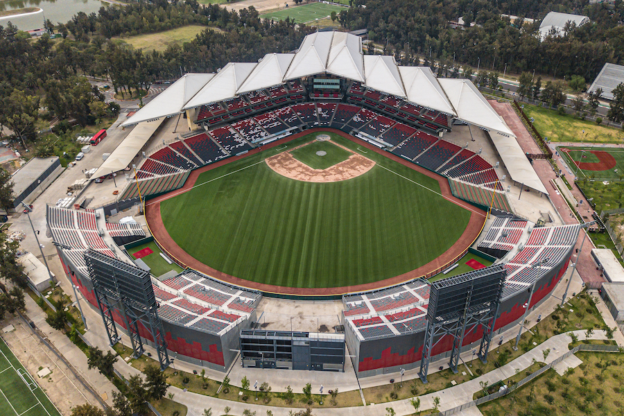
<svg viewBox="0 0 624 416">
<path fill-rule="evenodd" d="M 624 180 L 624 149 L 605 147 L 558 147 L 572 173 L 580 178 Z"/>
</svg>

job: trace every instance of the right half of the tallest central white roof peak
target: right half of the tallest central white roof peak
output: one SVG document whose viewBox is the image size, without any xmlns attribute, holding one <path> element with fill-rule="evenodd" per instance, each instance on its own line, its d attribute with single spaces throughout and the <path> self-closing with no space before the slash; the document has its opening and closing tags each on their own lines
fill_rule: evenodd
<svg viewBox="0 0 624 416">
<path fill-rule="evenodd" d="M 364 82 L 364 60 L 361 38 L 335 32 L 327 60 L 328 73 Z"/>
</svg>

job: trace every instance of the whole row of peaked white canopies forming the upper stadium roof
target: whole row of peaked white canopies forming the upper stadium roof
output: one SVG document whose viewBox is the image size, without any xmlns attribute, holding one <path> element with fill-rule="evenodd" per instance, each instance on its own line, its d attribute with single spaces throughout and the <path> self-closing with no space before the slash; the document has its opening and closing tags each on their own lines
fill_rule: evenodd
<svg viewBox="0 0 624 416">
<path fill-rule="evenodd" d="M 486 130 L 514 135 L 470 81 L 438 79 L 426 67 L 399 67 L 392 56 L 363 55 L 361 38 L 341 32 L 307 35 L 294 54 L 269 53 L 259 62 L 229 63 L 216 74 L 188 74 L 121 125 L 171 116 L 319 73 L 360 81 Z"/>
</svg>

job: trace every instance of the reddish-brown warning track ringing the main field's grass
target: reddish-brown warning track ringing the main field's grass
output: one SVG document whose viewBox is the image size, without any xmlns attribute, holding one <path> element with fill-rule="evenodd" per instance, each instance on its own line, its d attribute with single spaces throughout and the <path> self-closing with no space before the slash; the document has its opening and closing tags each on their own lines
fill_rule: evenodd
<svg viewBox="0 0 624 416">
<path fill-rule="evenodd" d="M 217 168 L 218 166 L 223 166 L 224 164 L 233 162 L 234 160 L 237 160 L 237 159 L 241 159 L 242 157 L 247 157 L 248 155 L 259 153 L 260 150 L 255 148 L 245 155 L 229 157 L 228 159 L 222 160 L 220 162 L 216 162 L 214 164 L 210 164 L 203 168 L 196 169 L 195 171 L 191 173 L 191 175 L 189 175 L 189 178 L 187 179 L 187 182 L 184 183 L 184 187 L 182 187 L 182 189 L 178 189 L 177 191 L 166 193 L 165 195 L 154 198 L 153 200 L 150 200 L 148 203 L 146 203 L 146 207 L 145 207 L 146 220 L 147 220 L 150 232 L 154 236 L 154 239 L 156 240 L 157 244 L 160 246 L 160 248 L 162 248 L 168 254 L 168 256 L 173 257 L 173 259 L 175 259 L 177 263 L 181 263 L 185 267 L 198 270 L 204 273 L 205 275 L 209 275 L 210 277 L 214 277 L 215 279 L 225 281 L 229 284 L 243 286 L 244 288 L 252 288 L 252 289 L 256 289 L 256 290 L 267 292 L 267 293 L 280 293 L 284 295 L 300 295 L 300 296 L 301 295 L 328 296 L 328 295 L 343 295 L 345 293 L 352 293 L 352 292 L 358 292 L 358 291 L 370 291 L 376 288 L 383 288 L 385 286 L 392 286 L 395 284 L 400 284 L 404 281 L 409 281 L 417 277 L 429 277 L 437 273 L 438 271 L 441 271 L 440 269 L 446 268 L 447 266 L 449 266 L 449 263 L 451 263 L 452 261 L 456 261 L 456 259 L 467 250 L 467 248 L 474 242 L 474 240 L 477 238 L 477 236 L 481 232 L 481 229 L 483 228 L 483 224 L 485 223 L 485 212 L 481 211 L 480 209 L 476 209 L 472 205 L 467 204 L 467 202 L 464 202 L 458 198 L 455 198 L 453 194 L 451 193 L 451 187 L 449 185 L 449 181 L 445 177 L 442 177 L 440 175 L 437 175 L 436 173 L 427 171 L 425 168 L 422 168 L 421 166 L 417 166 L 416 164 L 408 162 L 402 157 L 399 157 L 389 152 L 384 152 L 383 150 L 376 148 L 376 146 L 373 146 L 372 144 L 367 144 L 365 141 L 360 141 L 358 139 L 355 139 L 354 137 L 349 136 L 345 132 L 342 132 L 340 130 L 336 130 L 332 128 L 313 128 L 309 130 L 304 130 L 303 132 L 297 133 L 295 135 L 274 141 L 266 146 L 263 146 L 263 148 L 266 149 L 266 148 L 272 148 L 275 146 L 280 146 L 281 144 L 284 144 L 288 141 L 291 141 L 293 139 L 297 139 L 304 135 L 309 135 L 315 132 L 333 132 L 336 135 L 345 137 L 345 139 L 354 141 L 354 143 L 358 144 L 358 146 L 360 146 L 361 148 L 365 148 L 366 150 L 373 150 L 374 152 L 379 153 L 380 155 L 388 157 L 389 159 L 392 159 L 395 162 L 403 164 L 404 166 L 408 166 L 409 168 L 412 168 L 413 170 L 418 171 L 419 173 L 422 173 L 423 175 L 432 177 L 435 180 L 437 180 L 437 182 L 440 184 L 440 193 L 445 199 L 459 205 L 460 207 L 464 207 L 468 209 L 469 211 L 471 211 L 471 216 L 470 216 L 468 225 L 466 229 L 464 230 L 464 232 L 462 233 L 462 235 L 460 236 L 460 238 L 458 239 L 458 241 L 456 241 L 451 246 L 451 248 L 449 248 L 449 250 L 440 254 L 439 257 L 437 257 L 436 259 L 430 261 L 429 263 L 426 263 L 424 266 L 421 266 L 415 270 L 411 270 L 399 276 L 390 277 L 389 279 L 375 281 L 369 284 L 356 285 L 356 286 L 341 286 L 341 287 L 334 287 L 334 288 L 291 288 L 291 287 L 286 287 L 286 286 L 275 286 L 271 284 L 257 283 L 254 281 L 241 279 L 239 277 L 235 277 L 232 275 L 227 275 L 224 272 L 220 272 L 219 270 L 211 268 L 210 266 L 207 266 L 206 264 L 198 261 L 197 259 L 192 257 L 190 254 L 182 250 L 182 248 L 180 248 L 180 246 L 177 245 L 177 243 L 171 238 L 166 228 L 164 227 L 164 224 L 162 223 L 162 216 L 160 214 L 160 202 L 168 198 L 173 198 L 173 196 L 179 195 L 182 192 L 187 192 L 191 190 L 196 180 L 198 179 L 199 175 L 205 171 L 209 171 L 211 169 Z M 441 223 L 443 223 L 444 218 L 435 218 L 435 216 L 432 216 L 431 220 L 439 220 Z"/>
</svg>

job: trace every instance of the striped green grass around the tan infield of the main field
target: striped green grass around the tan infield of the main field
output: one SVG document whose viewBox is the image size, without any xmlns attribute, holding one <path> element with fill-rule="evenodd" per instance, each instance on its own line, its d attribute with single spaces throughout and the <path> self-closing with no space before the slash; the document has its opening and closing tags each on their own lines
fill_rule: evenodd
<svg viewBox="0 0 624 416">
<path fill-rule="evenodd" d="M 376 166 L 351 180 L 312 183 L 283 177 L 264 162 L 315 136 L 202 173 L 193 190 L 161 202 L 168 233 L 229 275 L 322 288 L 414 270 L 464 232 L 470 212 L 442 198 L 437 180 L 337 135 L 330 133 Z"/>
</svg>

